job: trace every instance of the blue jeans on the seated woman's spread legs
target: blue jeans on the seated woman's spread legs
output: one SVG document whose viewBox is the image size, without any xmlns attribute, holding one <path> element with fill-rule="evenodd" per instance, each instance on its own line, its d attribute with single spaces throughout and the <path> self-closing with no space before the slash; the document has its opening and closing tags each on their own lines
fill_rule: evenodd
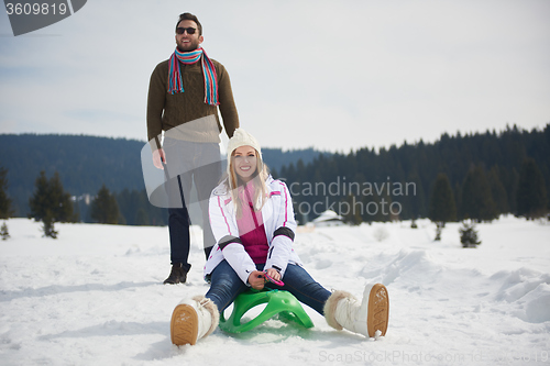
<svg viewBox="0 0 550 366">
<path fill-rule="evenodd" d="M 257 270 L 262 270 L 264 265 L 258 264 L 256 268 Z M 221 262 L 215 268 L 210 280 L 210 289 L 206 297 L 216 303 L 220 313 L 234 301 L 239 293 L 250 289 L 227 260 Z M 282 280 L 285 282 L 285 286 L 276 286 L 272 282 L 267 282 L 265 284 L 265 288 L 286 290 L 294 295 L 298 301 L 307 304 L 321 315 L 324 315 L 324 302 L 327 302 L 331 292 L 316 282 L 306 269 L 297 265 L 288 264 Z"/>
</svg>

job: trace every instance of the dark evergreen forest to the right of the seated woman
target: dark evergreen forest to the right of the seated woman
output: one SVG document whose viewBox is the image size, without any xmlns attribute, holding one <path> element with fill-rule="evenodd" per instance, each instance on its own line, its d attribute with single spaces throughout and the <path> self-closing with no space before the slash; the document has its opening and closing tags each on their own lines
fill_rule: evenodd
<svg viewBox="0 0 550 366">
<path fill-rule="evenodd" d="M 432 219 L 430 210 L 438 211 L 438 204 L 444 206 L 439 212 L 453 206 L 455 212 L 435 222 L 491 221 L 506 213 L 532 219 L 550 207 L 550 124 L 542 131 L 514 125 L 499 133 L 443 134 L 435 143 L 404 143 L 377 152 L 365 147 L 319 155 L 274 175 L 287 182 L 301 223 L 327 209 L 355 224 Z M 443 197 L 432 195 L 438 176 L 450 186 Z M 529 202 L 537 201 L 531 208 Z"/>
</svg>

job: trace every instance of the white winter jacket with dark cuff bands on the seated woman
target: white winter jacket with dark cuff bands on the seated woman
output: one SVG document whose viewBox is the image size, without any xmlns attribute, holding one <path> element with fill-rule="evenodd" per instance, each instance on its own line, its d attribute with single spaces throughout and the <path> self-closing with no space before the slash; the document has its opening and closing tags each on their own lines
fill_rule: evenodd
<svg viewBox="0 0 550 366">
<path fill-rule="evenodd" d="M 288 263 L 301 265 L 301 260 L 293 249 L 296 232 L 293 201 L 283 181 L 270 176 L 266 185 L 270 199 L 262 208 L 262 219 L 270 249 L 265 269 L 278 269 L 283 277 Z M 237 211 L 224 182 L 216 187 L 210 196 L 209 215 L 217 244 L 205 265 L 205 278 L 208 280 L 216 266 L 226 259 L 242 281 L 250 286 L 249 276 L 256 270 L 256 265 L 239 239 Z"/>
</svg>

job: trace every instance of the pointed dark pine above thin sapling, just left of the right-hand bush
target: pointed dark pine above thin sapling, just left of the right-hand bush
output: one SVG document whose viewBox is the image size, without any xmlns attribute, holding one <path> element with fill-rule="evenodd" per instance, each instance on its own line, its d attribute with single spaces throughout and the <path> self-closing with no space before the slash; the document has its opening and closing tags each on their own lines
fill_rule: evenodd
<svg viewBox="0 0 550 366">
<path fill-rule="evenodd" d="M 441 231 L 447 222 L 457 221 L 457 204 L 444 173 L 440 173 L 433 184 L 429 219 L 437 224 L 436 241 L 441 240 Z"/>
</svg>

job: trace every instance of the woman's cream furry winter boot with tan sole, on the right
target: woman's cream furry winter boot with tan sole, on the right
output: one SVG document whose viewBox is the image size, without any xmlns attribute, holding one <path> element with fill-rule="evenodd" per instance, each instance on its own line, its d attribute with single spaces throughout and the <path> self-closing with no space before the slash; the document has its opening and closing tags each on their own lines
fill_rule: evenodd
<svg viewBox="0 0 550 366">
<path fill-rule="evenodd" d="M 330 326 L 360 333 L 370 337 L 376 331 L 385 335 L 389 318 L 389 298 L 382 284 L 367 285 L 363 301 L 346 291 L 334 291 L 324 303 L 324 318 Z"/>
</svg>

